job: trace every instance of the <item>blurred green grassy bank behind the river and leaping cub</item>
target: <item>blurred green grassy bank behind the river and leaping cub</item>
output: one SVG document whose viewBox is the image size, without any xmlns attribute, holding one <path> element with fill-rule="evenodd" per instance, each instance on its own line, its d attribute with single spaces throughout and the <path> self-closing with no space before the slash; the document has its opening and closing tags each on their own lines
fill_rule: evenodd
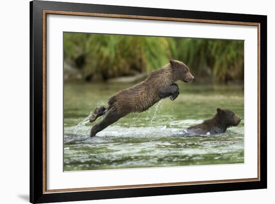
<svg viewBox="0 0 275 204">
<path fill-rule="evenodd" d="M 243 40 L 64 32 L 65 80 L 100 81 L 183 61 L 198 82 L 243 80 Z"/>
</svg>

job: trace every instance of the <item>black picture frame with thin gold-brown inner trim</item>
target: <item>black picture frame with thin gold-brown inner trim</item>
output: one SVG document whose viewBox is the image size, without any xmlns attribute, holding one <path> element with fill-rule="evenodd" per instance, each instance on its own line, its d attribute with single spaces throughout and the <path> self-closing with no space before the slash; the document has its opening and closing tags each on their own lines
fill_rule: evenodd
<svg viewBox="0 0 275 204">
<path fill-rule="evenodd" d="M 257 177 L 67 188 L 46 187 L 46 16 L 48 14 L 257 26 Z M 265 15 L 38 1 L 30 2 L 30 202 L 168 195 L 267 187 L 267 17 Z"/>
</svg>

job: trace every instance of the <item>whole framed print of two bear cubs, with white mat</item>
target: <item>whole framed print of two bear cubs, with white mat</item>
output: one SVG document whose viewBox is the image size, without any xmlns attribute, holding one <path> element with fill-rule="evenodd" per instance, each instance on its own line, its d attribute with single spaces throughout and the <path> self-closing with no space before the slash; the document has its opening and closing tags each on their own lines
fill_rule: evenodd
<svg viewBox="0 0 275 204">
<path fill-rule="evenodd" d="M 30 2 L 30 202 L 266 188 L 264 15 Z"/>
</svg>

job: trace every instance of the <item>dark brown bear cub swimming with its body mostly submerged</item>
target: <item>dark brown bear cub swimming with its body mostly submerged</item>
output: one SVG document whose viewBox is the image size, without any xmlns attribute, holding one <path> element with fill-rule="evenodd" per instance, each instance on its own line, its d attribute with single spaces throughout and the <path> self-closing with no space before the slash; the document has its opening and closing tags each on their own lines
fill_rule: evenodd
<svg viewBox="0 0 275 204">
<path fill-rule="evenodd" d="M 201 124 L 188 127 L 187 132 L 196 134 L 222 133 L 225 132 L 228 127 L 238 125 L 240 120 L 241 117 L 237 116 L 233 111 L 217 108 L 216 114 L 211 119 L 204 120 Z"/>
</svg>

